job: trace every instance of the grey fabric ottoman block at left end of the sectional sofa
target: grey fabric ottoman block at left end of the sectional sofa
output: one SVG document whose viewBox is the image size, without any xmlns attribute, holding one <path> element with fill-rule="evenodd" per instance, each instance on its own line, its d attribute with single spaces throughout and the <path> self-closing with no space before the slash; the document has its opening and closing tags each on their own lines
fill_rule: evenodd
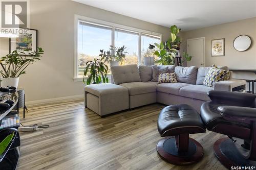
<svg viewBox="0 0 256 170">
<path fill-rule="evenodd" d="M 129 92 L 123 86 L 101 83 L 87 85 L 84 89 L 84 106 L 100 116 L 129 109 Z"/>
</svg>

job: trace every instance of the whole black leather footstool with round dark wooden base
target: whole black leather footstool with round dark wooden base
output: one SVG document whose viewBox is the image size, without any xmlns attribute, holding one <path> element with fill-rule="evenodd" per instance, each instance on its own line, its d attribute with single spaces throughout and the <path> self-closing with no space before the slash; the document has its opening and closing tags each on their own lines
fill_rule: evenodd
<svg viewBox="0 0 256 170">
<path fill-rule="evenodd" d="M 158 117 L 158 132 L 165 138 L 157 143 L 157 153 L 165 161 L 185 165 L 203 157 L 202 145 L 188 137 L 205 132 L 200 114 L 193 107 L 172 105 L 163 108 Z"/>
</svg>

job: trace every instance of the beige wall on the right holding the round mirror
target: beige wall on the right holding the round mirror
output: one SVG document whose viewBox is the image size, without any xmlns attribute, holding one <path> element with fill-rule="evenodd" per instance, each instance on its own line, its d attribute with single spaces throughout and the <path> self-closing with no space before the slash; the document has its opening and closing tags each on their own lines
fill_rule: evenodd
<svg viewBox="0 0 256 170">
<path fill-rule="evenodd" d="M 245 52 L 233 48 L 233 40 L 246 34 L 251 37 L 252 45 Z M 205 37 L 205 65 L 227 65 L 230 68 L 256 69 L 256 17 L 224 23 L 212 27 L 183 32 L 183 49 L 186 50 L 186 40 Z M 211 40 L 225 38 L 225 56 L 211 57 Z"/>
</svg>

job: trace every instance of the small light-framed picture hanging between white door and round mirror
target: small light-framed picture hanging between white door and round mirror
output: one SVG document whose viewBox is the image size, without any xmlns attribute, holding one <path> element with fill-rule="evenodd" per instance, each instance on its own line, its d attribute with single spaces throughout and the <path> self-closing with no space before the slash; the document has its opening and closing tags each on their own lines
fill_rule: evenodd
<svg viewBox="0 0 256 170">
<path fill-rule="evenodd" d="M 225 38 L 211 40 L 211 56 L 225 56 Z"/>
</svg>

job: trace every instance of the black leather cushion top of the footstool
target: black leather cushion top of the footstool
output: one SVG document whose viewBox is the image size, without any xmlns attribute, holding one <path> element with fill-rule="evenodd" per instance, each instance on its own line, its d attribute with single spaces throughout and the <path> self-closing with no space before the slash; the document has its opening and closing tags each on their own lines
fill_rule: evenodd
<svg viewBox="0 0 256 170">
<path fill-rule="evenodd" d="M 172 105 L 163 108 L 158 117 L 158 132 L 161 136 L 205 132 L 200 114 L 191 106 Z"/>
</svg>

